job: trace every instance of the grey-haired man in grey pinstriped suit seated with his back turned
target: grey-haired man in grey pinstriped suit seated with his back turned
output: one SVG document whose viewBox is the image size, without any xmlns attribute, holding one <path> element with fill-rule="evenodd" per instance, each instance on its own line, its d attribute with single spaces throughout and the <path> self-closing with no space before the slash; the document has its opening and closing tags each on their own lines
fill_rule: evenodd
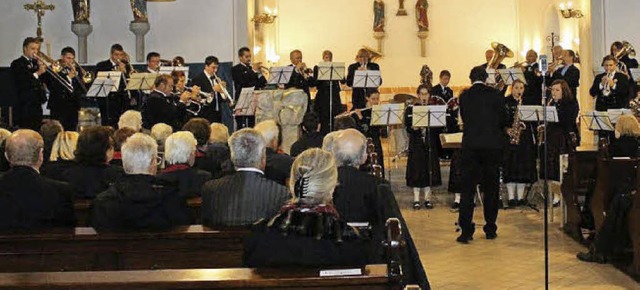
<svg viewBox="0 0 640 290">
<path fill-rule="evenodd" d="M 208 181 L 202 187 L 202 223 L 245 226 L 275 215 L 290 198 L 286 187 L 264 176 L 266 142 L 245 128 L 229 138 L 236 173 Z"/>
</svg>

